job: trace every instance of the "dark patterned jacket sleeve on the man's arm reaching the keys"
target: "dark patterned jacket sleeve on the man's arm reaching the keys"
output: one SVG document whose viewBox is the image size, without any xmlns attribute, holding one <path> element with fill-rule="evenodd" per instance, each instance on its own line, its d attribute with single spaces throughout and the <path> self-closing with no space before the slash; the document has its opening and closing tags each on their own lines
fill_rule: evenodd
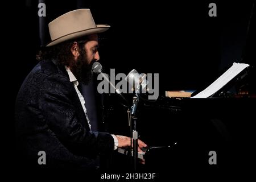
<svg viewBox="0 0 256 182">
<path fill-rule="evenodd" d="M 43 81 L 40 109 L 49 129 L 61 143 L 76 154 L 104 154 L 113 151 L 114 140 L 108 133 L 86 130 L 78 121 L 72 83 L 60 75 L 50 75 Z"/>
</svg>

